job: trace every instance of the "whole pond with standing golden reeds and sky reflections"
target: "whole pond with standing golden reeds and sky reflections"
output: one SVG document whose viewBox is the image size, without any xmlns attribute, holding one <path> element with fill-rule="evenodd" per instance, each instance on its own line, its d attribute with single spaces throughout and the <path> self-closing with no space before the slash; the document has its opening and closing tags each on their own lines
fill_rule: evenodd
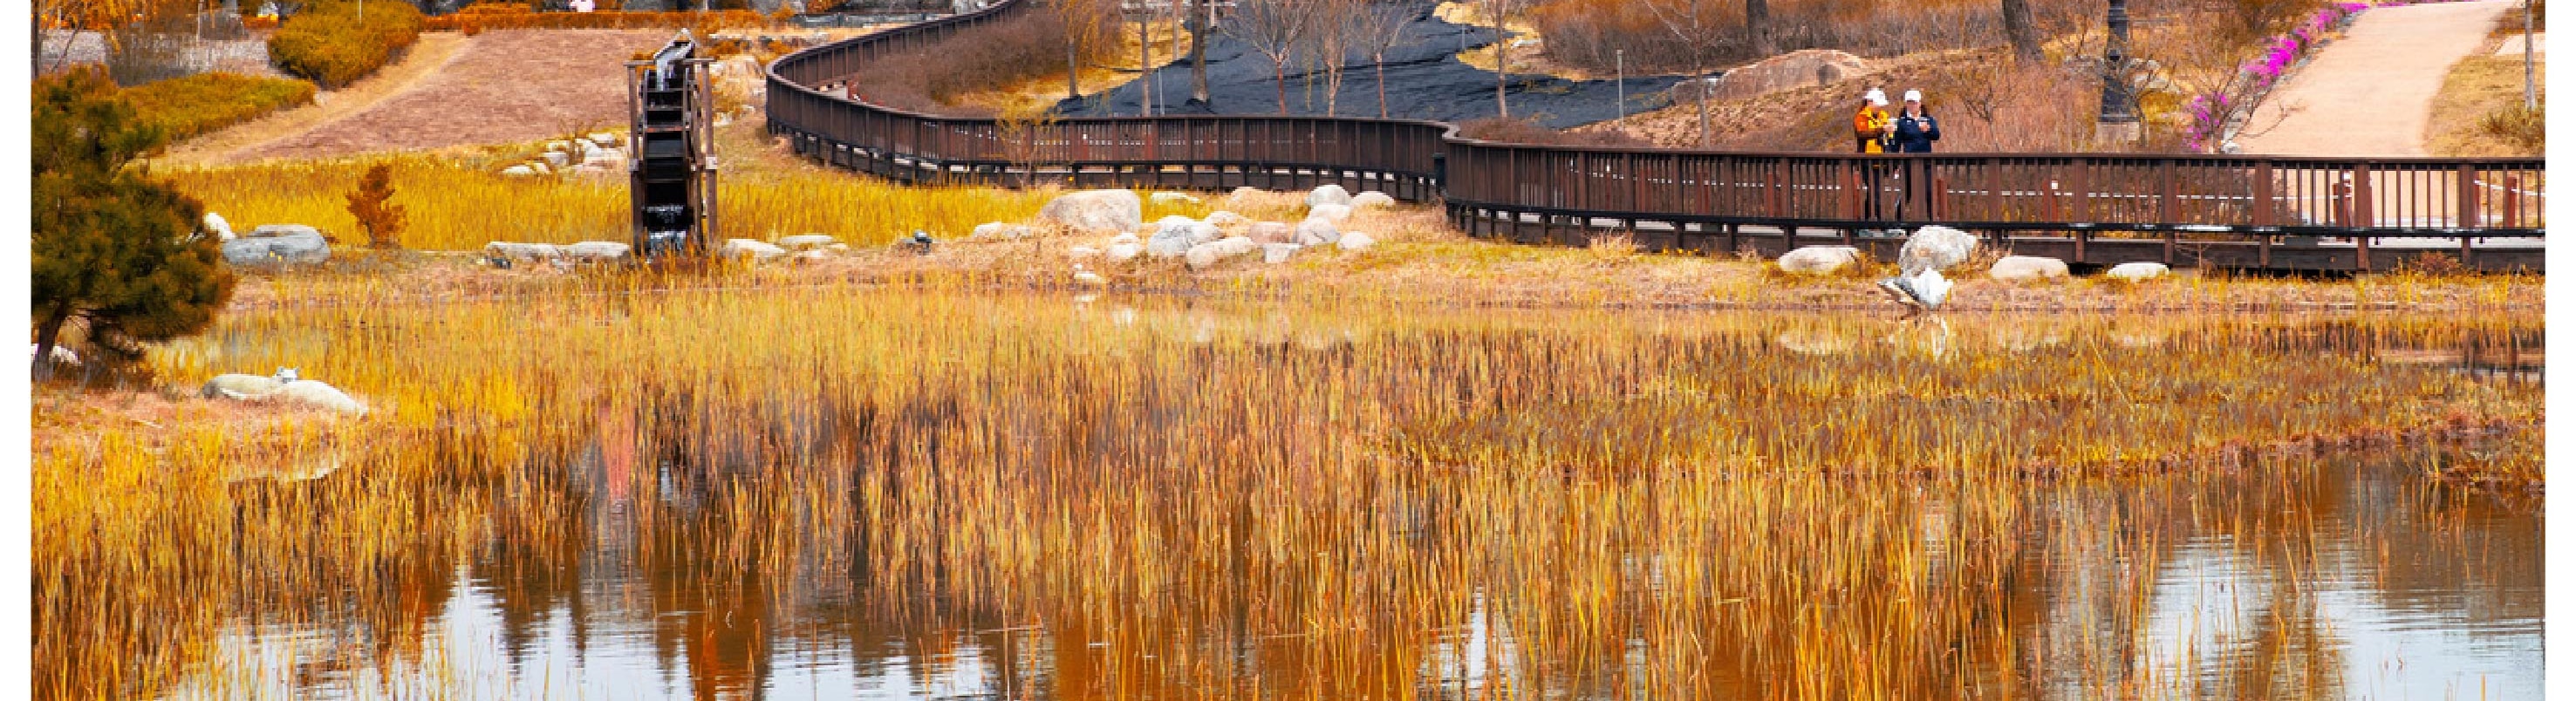
<svg viewBox="0 0 2576 701">
<path fill-rule="evenodd" d="M 402 482 L 435 536 L 281 562 L 312 590 L 237 593 L 155 696 L 2543 696 L 2540 500 L 2429 477 L 2486 443 L 2326 446 L 2537 407 L 2537 317 L 848 314 L 520 374 L 649 389 L 526 389 L 554 448 L 420 438 L 389 461 L 487 474 Z M 232 353 L 381 343 L 319 338 Z"/>
</svg>

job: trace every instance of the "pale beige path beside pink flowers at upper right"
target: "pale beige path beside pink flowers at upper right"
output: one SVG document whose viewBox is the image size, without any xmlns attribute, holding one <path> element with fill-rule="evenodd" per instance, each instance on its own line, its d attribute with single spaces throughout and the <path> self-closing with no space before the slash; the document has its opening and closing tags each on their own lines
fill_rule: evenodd
<svg viewBox="0 0 2576 701">
<path fill-rule="evenodd" d="M 2272 93 L 2236 142 L 2249 155 L 2424 155 L 2442 77 L 2486 44 L 2509 8 L 2517 5 L 2481 0 L 2365 10 Z"/>
</svg>

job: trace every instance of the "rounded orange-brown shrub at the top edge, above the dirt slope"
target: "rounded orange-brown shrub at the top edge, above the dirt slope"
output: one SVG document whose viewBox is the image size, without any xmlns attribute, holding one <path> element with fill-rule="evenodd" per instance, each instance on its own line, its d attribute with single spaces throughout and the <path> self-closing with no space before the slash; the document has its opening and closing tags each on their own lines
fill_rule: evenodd
<svg viewBox="0 0 2576 701">
<path fill-rule="evenodd" d="M 322 88 L 348 88 L 412 46 L 420 26 L 420 8 L 410 3 L 368 3 L 363 18 L 355 5 L 317 5 L 268 36 L 268 59 Z"/>
</svg>

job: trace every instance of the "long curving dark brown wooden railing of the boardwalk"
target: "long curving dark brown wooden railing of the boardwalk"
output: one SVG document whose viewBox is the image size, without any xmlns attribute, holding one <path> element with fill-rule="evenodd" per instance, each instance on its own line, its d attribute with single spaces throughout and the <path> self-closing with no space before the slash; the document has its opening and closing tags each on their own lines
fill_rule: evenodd
<svg viewBox="0 0 2576 701">
<path fill-rule="evenodd" d="M 1535 147 L 1440 121 L 1154 116 L 1007 124 L 848 98 L 868 62 L 933 49 L 1025 0 L 788 54 L 768 126 L 814 160 L 907 183 L 1376 188 L 1443 201 L 1468 232 L 1777 253 L 1950 224 L 2074 263 L 2388 268 L 2445 240 L 2476 268 L 2540 271 L 2545 160 L 2262 155 L 1814 155 Z M 2316 240 L 2336 237 L 2336 240 Z M 2514 245 L 2481 240 L 2512 237 Z M 2349 242 L 2344 242 L 2349 240 Z M 2406 240 L 2385 245 L 2383 240 Z M 2383 250 L 2378 258 L 2372 247 Z"/>
</svg>

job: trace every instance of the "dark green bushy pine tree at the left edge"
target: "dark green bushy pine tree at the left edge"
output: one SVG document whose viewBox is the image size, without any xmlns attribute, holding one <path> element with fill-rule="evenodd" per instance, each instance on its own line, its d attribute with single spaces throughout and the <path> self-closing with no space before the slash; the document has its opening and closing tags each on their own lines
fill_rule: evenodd
<svg viewBox="0 0 2576 701">
<path fill-rule="evenodd" d="M 46 358 L 75 320 L 108 343 L 165 340 L 214 322 L 232 299 L 232 271 L 198 229 L 204 206 L 129 168 L 165 137 L 134 119 L 106 72 L 36 80 L 28 131 L 36 376 L 52 374 Z"/>
</svg>

